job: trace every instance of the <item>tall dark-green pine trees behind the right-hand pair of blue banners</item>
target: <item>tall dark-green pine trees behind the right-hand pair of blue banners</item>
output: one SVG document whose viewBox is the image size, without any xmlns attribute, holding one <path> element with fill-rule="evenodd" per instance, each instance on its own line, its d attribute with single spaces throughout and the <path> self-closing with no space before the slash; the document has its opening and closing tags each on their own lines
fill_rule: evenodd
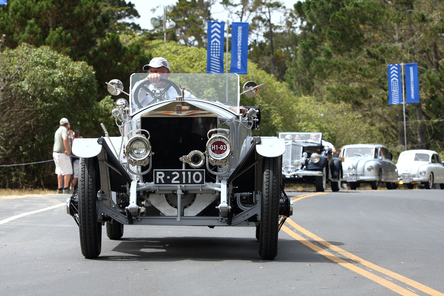
<svg viewBox="0 0 444 296">
<path fill-rule="evenodd" d="M 286 76 L 293 90 L 350 103 L 375 118 L 389 141 L 403 144 L 402 109 L 388 106 L 386 67 L 417 62 L 421 104 L 408 106 L 409 143 L 442 145 L 443 129 L 433 124 L 443 111 L 436 70 L 443 52 L 441 1 L 309 0 L 294 7 L 301 27 Z"/>
</svg>

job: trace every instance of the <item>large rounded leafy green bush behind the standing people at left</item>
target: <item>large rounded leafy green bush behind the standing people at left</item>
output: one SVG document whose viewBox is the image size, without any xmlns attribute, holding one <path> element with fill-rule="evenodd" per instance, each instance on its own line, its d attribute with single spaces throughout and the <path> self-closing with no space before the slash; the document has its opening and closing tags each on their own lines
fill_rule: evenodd
<svg viewBox="0 0 444 296">
<path fill-rule="evenodd" d="M 97 83 L 92 67 L 50 47 L 22 44 L 5 49 L 0 53 L 0 77 L 9 80 L 0 92 L 4 111 L 0 118 L 2 165 L 51 159 L 54 132 L 62 117 L 83 137 L 99 136 L 100 122 L 109 127 L 113 124 L 110 111 L 101 109 L 107 104 L 95 100 Z M 52 162 L 6 167 L 0 174 L 3 188 L 56 186 Z"/>
</svg>

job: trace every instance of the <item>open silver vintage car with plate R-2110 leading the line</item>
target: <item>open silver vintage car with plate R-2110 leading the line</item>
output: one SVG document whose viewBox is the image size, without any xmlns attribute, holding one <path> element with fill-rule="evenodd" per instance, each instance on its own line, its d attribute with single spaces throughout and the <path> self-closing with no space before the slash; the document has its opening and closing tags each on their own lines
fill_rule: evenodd
<svg viewBox="0 0 444 296">
<path fill-rule="evenodd" d="M 119 239 L 124 225 L 230 226 L 254 223 L 259 255 L 277 255 L 277 233 L 292 213 L 281 186 L 283 139 L 252 137 L 260 113 L 242 117 L 237 74 L 174 74 L 151 85 L 131 75 L 129 102 L 112 111 L 120 137 L 83 138 L 78 191 L 67 211 L 79 224 L 86 258 L 101 252 L 102 225 Z M 153 83 L 154 84 L 154 83 Z M 118 80 L 112 95 L 123 92 Z M 254 96 L 256 83 L 243 92 Z"/>
</svg>

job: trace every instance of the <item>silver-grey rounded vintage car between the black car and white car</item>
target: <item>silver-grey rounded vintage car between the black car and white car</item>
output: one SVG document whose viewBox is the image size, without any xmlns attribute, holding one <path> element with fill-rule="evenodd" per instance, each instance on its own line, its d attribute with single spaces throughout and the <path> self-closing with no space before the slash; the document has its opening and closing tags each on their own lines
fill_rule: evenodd
<svg viewBox="0 0 444 296">
<path fill-rule="evenodd" d="M 379 144 L 345 145 L 340 157 L 344 158 L 342 170 L 350 189 L 357 189 L 361 183 L 370 183 L 372 189 L 377 189 L 379 182 L 385 182 L 387 189 L 397 188 L 398 170 L 387 147 Z"/>
</svg>

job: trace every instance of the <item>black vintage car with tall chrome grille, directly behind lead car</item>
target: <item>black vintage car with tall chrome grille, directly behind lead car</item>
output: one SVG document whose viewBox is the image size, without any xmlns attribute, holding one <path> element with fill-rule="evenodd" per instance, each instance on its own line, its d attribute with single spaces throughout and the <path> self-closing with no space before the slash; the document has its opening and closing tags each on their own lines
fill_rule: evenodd
<svg viewBox="0 0 444 296">
<path fill-rule="evenodd" d="M 342 178 L 341 158 L 334 158 L 329 142 L 322 133 L 281 132 L 285 139 L 282 155 L 282 183 L 314 183 L 317 192 L 325 190 L 329 180 L 333 191 L 339 191 Z"/>
</svg>

